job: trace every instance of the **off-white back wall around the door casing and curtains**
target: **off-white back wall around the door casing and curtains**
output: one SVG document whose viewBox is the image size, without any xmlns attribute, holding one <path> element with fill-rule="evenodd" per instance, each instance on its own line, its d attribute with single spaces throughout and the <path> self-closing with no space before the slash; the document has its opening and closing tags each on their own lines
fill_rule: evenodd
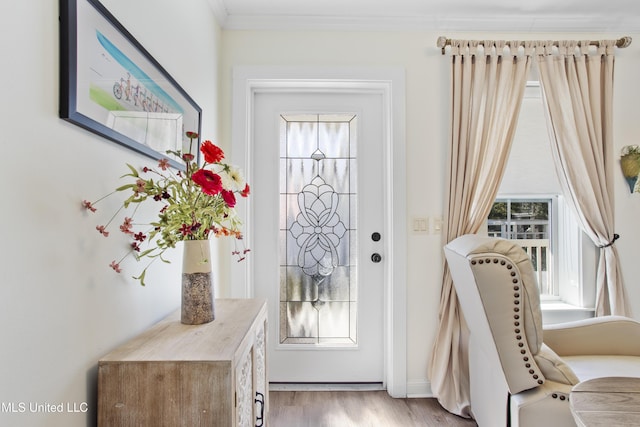
<svg viewBox="0 0 640 427">
<path fill-rule="evenodd" d="M 449 60 L 435 43 L 440 33 L 430 32 L 321 32 L 321 31 L 223 31 L 222 124 L 230 136 L 231 78 L 234 66 L 397 66 L 406 70 L 406 144 L 409 227 L 413 217 L 442 216 L 449 119 Z M 445 34 L 452 38 L 601 38 L 597 35 Z M 606 38 L 618 37 L 609 35 Z M 631 34 L 633 36 L 633 34 Z M 640 44 L 619 51 L 616 75 L 616 147 L 640 139 L 635 84 L 640 67 Z M 614 154 L 614 153 L 612 153 Z M 617 152 L 615 153 L 617 156 Z M 616 171 L 617 173 L 618 171 Z M 634 277 L 640 239 L 637 217 L 640 194 L 624 191 L 616 175 L 617 231 L 623 236 L 618 248 L 635 312 L 640 313 L 640 291 Z M 442 276 L 441 236 L 408 231 L 408 360 L 409 393 L 430 391 L 427 364 L 436 331 Z"/>
</svg>

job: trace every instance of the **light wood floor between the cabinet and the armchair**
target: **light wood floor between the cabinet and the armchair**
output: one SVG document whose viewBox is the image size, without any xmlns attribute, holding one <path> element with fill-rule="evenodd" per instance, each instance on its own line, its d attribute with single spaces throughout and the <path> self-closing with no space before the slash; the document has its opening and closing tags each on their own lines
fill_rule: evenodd
<svg viewBox="0 0 640 427">
<path fill-rule="evenodd" d="M 270 391 L 271 427 L 476 426 L 435 399 L 394 399 L 386 391 Z"/>
</svg>

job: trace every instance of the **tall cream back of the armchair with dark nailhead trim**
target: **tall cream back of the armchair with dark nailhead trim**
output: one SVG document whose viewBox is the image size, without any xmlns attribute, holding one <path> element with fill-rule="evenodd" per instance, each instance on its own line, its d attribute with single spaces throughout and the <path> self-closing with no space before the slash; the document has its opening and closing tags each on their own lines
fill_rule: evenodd
<svg viewBox="0 0 640 427">
<path fill-rule="evenodd" d="M 516 243 L 465 235 L 444 248 L 476 354 L 502 371 L 511 394 L 544 383 L 534 356 L 542 348 L 540 295 L 531 260 Z M 473 373 L 472 373 L 473 379 Z"/>
</svg>

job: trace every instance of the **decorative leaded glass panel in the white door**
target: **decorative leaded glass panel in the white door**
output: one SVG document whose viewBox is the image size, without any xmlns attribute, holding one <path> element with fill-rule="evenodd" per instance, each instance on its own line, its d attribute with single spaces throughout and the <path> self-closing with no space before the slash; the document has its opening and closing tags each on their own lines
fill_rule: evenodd
<svg viewBox="0 0 640 427">
<path fill-rule="evenodd" d="M 356 120 L 281 116 L 281 343 L 357 343 Z"/>
</svg>

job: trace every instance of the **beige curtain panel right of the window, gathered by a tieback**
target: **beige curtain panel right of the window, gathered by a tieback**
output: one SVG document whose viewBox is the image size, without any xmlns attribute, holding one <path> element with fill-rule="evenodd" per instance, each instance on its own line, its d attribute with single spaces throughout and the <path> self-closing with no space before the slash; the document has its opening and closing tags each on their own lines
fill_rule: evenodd
<svg viewBox="0 0 640 427">
<path fill-rule="evenodd" d="M 615 247 L 613 204 L 613 66 L 615 40 L 536 45 L 552 151 L 563 193 L 582 230 L 600 248 L 596 315 L 628 316 Z"/>
</svg>

